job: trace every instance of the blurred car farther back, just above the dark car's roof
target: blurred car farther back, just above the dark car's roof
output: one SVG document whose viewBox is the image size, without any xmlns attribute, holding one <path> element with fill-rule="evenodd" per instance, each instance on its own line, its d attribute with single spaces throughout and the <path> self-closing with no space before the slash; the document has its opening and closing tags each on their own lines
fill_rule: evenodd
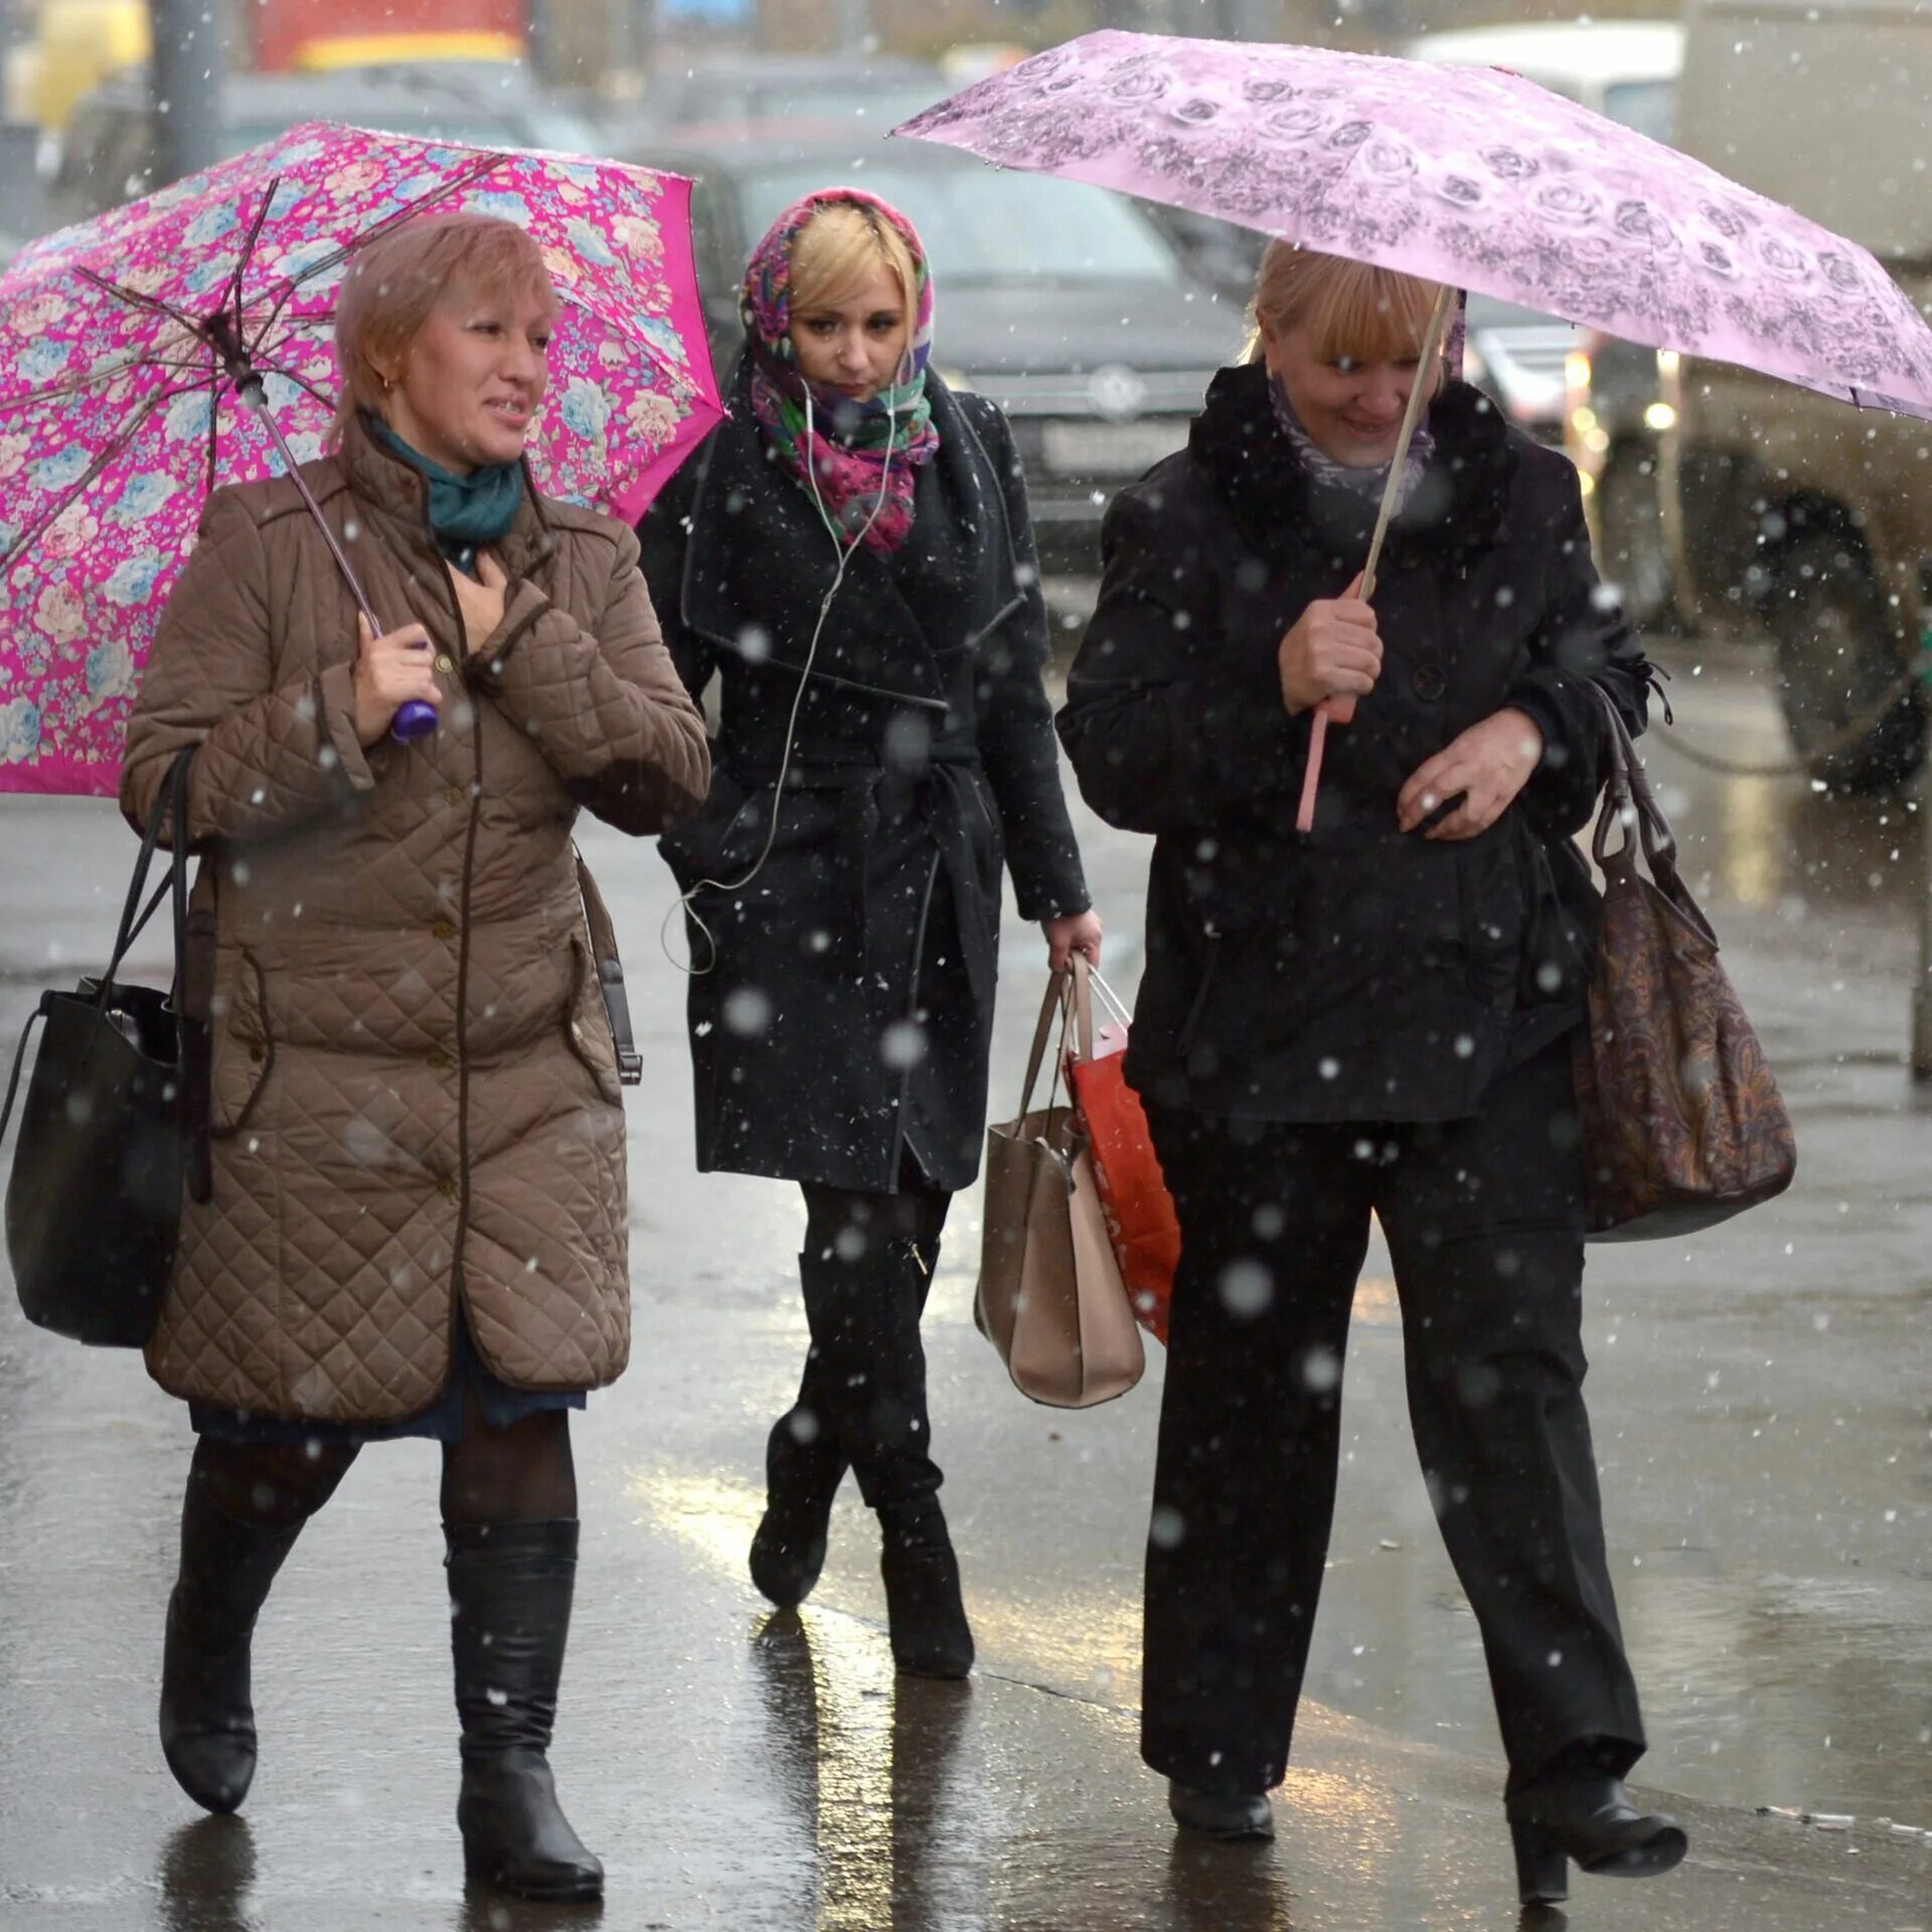
<svg viewBox="0 0 1932 1932">
<path fill-rule="evenodd" d="M 860 120 L 885 133 L 956 91 L 941 68 L 898 54 L 707 54 L 655 68 L 618 139 L 724 122 Z"/>
</svg>

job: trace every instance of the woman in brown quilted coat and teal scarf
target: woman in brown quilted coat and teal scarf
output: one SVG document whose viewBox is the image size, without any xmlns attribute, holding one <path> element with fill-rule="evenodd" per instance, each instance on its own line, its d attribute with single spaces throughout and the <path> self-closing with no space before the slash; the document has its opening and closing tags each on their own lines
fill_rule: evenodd
<svg viewBox="0 0 1932 1932">
<path fill-rule="evenodd" d="M 334 450 L 303 469 L 311 502 L 294 479 L 211 498 L 122 806 L 147 823 L 195 748 L 213 1190 L 185 1206 L 149 1345 L 199 1434 L 168 1766 L 209 1810 L 242 1803 L 276 1571 L 363 1443 L 429 1437 L 466 1866 L 587 1899 L 603 1868 L 547 1758 L 578 1553 L 568 1412 L 624 1370 L 630 1277 L 607 947 L 570 829 L 589 810 L 659 831 L 703 800 L 709 761 L 636 539 L 524 466 L 556 313 L 510 222 L 415 220 L 357 251 Z M 404 746 L 412 703 L 437 728 Z"/>
</svg>

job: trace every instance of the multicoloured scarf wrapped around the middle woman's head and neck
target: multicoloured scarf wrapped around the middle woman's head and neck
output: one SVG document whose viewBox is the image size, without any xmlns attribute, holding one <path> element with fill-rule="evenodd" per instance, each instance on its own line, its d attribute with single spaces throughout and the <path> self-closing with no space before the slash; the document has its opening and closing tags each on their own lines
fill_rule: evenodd
<svg viewBox="0 0 1932 1932">
<path fill-rule="evenodd" d="M 912 292 L 912 338 L 900 365 L 904 381 L 866 404 L 808 383 L 792 352 L 792 240 L 819 209 L 840 205 L 869 209 L 889 220 L 912 251 L 918 278 Z M 821 187 L 804 201 L 794 201 L 771 224 L 746 267 L 738 307 L 752 354 L 752 413 L 781 466 L 808 493 L 817 483 L 817 498 L 844 531 L 848 547 L 864 531 L 871 549 L 898 549 L 912 529 L 914 471 L 939 448 L 939 431 L 933 429 L 931 404 L 925 400 L 925 363 L 933 348 L 933 276 L 918 230 L 891 203 L 860 187 Z"/>
</svg>

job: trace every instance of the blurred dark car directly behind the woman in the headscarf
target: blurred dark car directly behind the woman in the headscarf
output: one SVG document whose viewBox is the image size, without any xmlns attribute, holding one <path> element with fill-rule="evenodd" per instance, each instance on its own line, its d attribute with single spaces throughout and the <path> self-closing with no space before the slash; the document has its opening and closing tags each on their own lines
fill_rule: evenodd
<svg viewBox="0 0 1932 1932">
<path fill-rule="evenodd" d="M 1103 187 L 825 129 L 674 131 L 622 158 L 697 182 L 697 280 L 721 377 L 742 344 L 746 257 L 792 201 L 856 182 L 904 209 L 939 288 L 933 363 L 1012 421 L 1051 568 L 1097 568 L 1109 495 L 1186 442 L 1240 344 L 1240 309 Z"/>
</svg>

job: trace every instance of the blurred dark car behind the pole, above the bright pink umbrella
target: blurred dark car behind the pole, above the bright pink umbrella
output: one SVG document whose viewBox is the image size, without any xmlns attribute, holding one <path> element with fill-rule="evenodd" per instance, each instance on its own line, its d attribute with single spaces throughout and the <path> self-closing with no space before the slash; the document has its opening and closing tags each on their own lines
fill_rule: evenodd
<svg viewBox="0 0 1932 1932">
<path fill-rule="evenodd" d="M 547 147 L 570 155 L 599 147 L 591 126 L 547 95 L 520 64 L 429 62 L 228 75 L 220 91 L 218 156 L 274 141 L 305 120 L 477 147 Z M 155 108 L 147 75 L 135 71 L 75 102 L 48 199 L 66 226 L 155 185 Z"/>
</svg>

